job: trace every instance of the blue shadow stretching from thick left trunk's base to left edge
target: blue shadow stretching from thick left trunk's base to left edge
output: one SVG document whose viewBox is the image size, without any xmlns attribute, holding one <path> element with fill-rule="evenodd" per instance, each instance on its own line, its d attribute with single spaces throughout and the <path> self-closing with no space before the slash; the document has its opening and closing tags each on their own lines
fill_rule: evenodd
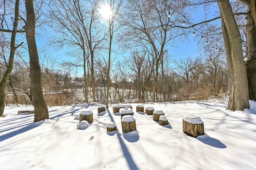
<svg viewBox="0 0 256 170">
<path fill-rule="evenodd" d="M 12 138 L 18 134 L 21 134 L 21 133 L 24 133 L 28 130 L 31 130 L 33 128 L 36 128 L 36 127 L 39 127 L 40 125 L 42 125 L 42 123 L 44 123 L 44 121 L 39 121 L 39 122 L 35 122 L 35 123 L 31 123 L 29 124 L 28 126 L 24 127 L 24 128 L 21 128 L 19 130 L 16 130 L 16 131 L 13 131 L 13 132 L 10 132 L 8 134 L 4 134 L 2 136 L 0 136 L 0 142 L 8 139 L 8 138 Z"/>
</svg>

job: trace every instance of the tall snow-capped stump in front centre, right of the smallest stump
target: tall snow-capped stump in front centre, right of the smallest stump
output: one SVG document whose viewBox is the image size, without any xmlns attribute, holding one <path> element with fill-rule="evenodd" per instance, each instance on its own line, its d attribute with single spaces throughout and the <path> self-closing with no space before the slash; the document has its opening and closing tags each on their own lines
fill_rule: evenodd
<svg viewBox="0 0 256 170">
<path fill-rule="evenodd" d="M 131 132 L 137 130 L 135 119 L 132 115 L 125 115 L 121 119 L 122 131 L 123 133 Z"/>
</svg>

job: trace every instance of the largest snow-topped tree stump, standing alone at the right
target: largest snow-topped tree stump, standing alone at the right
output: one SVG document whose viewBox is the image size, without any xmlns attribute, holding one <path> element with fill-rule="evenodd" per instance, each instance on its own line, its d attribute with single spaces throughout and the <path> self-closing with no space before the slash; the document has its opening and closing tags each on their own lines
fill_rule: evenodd
<svg viewBox="0 0 256 170">
<path fill-rule="evenodd" d="M 183 132 L 196 138 L 204 134 L 204 122 L 195 115 L 186 115 L 182 119 Z"/>
</svg>

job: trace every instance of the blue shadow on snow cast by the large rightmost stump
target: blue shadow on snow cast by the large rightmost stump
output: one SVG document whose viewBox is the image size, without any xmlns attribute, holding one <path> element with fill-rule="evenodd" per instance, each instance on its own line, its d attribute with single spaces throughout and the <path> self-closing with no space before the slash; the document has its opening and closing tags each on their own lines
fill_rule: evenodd
<svg viewBox="0 0 256 170">
<path fill-rule="evenodd" d="M 206 134 L 206 133 L 202 136 L 197 136 L 196 139 L 203 142 L 204 144 L 208 144 L 215 148 L 221 148 L 221 149 L 227 148 L 227 146 L 225 144 L 223 144 L 222 142 L 220 142 L 220 140 L 218 140 L 216 138 L 212 138 L 212 137 L 208 136 L 208 134 Z"/>
</svg>

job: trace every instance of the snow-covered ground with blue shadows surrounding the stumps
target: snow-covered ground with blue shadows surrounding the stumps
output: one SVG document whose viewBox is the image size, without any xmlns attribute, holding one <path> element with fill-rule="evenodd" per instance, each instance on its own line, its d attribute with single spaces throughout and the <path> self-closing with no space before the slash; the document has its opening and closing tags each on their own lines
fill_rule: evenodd
<svg viewBox="0 0 256 170">
<path fill-rule="evenodd" d="M 256 103 L 250 109 L 226 111 L 218 101 L 144 104 L 162 110 L 170 122 L 160 126 L 152 115 L 136 113 L 137 131 L 122 133 L 112 105 L 98 115 L 95 105 L 50 107 L 50 119 L 33 123 L 19 114 L 31 106 L 6 107 L 0 117 L 1 170 L 251 170 L 256 169 Z M 141 105 L 141 103 L 139 104 Z M 79 113 L 91 110 L 94 122 L 78 130 Z M 182 118 L 197 115 L 206 134 L 182 132 Z M 118 130 L 107 132 L 110 122 Z"/>
</svg>

